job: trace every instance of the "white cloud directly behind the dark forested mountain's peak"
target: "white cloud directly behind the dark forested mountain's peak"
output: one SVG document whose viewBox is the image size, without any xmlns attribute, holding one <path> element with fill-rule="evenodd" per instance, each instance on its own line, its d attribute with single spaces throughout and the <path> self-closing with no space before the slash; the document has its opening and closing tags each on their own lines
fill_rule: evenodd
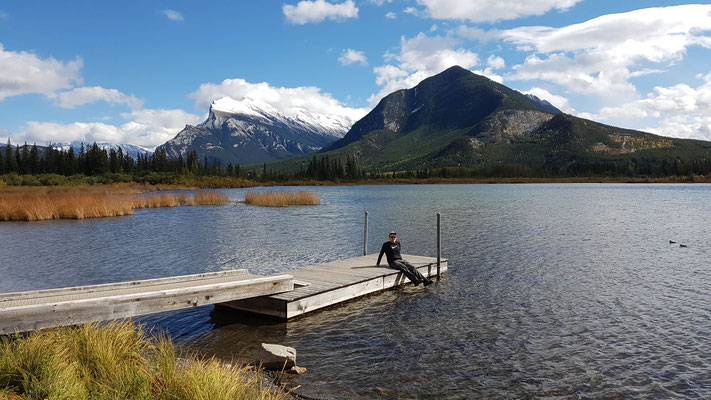
<svg viewBox="0 0 711 400">
<path fill-rule="evenodd" d="M 411 39 L 403 36 L 400 39 L 400 54 L 386 54 L 386 60 L 395 61 L 397 65 L 386 64 L 373 69 L 375 83 L 382 87 L 368 101 L 377 104 L 388 94 L 413 87 L 453 65 L 470 69 L 479 63 L 476 53 L 462 48 L 455 49 L 455 45 L 456 40 L 450 37 L 427 36 L 424 33 Z"/>
</svg>

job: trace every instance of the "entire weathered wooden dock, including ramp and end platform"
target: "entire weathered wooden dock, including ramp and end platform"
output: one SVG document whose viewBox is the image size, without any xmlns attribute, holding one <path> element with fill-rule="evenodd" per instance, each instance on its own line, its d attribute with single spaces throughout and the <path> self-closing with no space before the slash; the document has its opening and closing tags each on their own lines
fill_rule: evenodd
<svg viewBox="0 0 711 400">
<path fill-rule="evenodd" d="M 403 256 L 427 277 L 437 259 Z M 408 283 L 400 272 L 376 266 L 376 254 L 286 271 L 211 272 L 102 285 L 0 294 L 0 335 L 121 319 L 215 304 L 289 320 L 337 303 Z M 447 260 L 440 263 L 447 271 Z"/>
</svg>

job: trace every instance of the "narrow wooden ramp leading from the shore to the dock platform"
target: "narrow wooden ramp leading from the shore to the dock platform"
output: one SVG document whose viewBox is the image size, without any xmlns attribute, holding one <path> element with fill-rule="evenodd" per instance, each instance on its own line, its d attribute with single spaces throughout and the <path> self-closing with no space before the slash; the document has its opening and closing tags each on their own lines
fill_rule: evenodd
<svg viewBox="0 0 711 400">
<path fill-rule="evenodd" d="M 127 318 L 293 290 L 291 275 L 221 271 L 0 294 L 0 334 Z"/>
</svg>

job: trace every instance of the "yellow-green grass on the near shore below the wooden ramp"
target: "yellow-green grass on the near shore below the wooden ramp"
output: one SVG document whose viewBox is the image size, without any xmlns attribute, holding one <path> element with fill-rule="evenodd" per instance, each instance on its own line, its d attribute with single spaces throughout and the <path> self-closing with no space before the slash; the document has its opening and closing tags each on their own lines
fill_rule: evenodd
<svg viewBox="0 0 711 400">
<path fill-rule="evenodd" d="M 281 400 L 260 371 L 176 357 L 165 337 L 131 322 L 0 338 L 0 399 Z"/>
</svg>

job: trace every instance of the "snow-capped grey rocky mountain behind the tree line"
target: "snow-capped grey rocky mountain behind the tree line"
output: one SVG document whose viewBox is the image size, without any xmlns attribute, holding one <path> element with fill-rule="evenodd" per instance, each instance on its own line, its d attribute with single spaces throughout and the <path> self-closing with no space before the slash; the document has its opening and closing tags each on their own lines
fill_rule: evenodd
<svg viewBox="0 0 711 400">
<path fill-rule="evenodd" d="M 252 164 L 320 150 L 342 138 L 353 122 L 305 110 L 285 115 L 264 101 L 222 97 L 213 101 L 203 123 L 186 125 L 156 150 L 165 148 L 170 158 L 186 158 L 194 150 L 200 159 L 207 156 L 223 166 Z"/>
</svg>

